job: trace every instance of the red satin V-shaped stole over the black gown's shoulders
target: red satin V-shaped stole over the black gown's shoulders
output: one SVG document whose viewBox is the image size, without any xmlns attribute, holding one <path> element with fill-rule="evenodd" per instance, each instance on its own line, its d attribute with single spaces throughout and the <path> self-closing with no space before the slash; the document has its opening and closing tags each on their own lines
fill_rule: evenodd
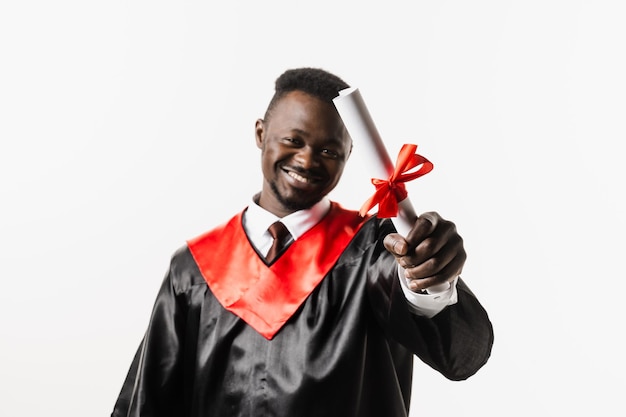
<svg viewBox="0 0 626 417">
<path fill-rule="evenodd" d="M 254 250 L 243 212 L 187 242 L 217 300 L 272 339 L 322 281 L 366 220 L 332 203 L 326 216 L 271 266 Z"/>
</svg>

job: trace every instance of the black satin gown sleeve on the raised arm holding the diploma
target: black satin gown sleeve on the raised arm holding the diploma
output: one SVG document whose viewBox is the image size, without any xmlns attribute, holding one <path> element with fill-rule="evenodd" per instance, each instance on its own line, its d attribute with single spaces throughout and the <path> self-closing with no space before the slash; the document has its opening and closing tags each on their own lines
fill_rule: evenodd
<svg viewBox="0 0 626 417">
<path fill-rule="evenodd" d="M 487 312 L 462 279 L 457 283 L 458 302 L 429 319 L 413 314 L 400 288 L 395 260 L 382 245 L 395 232 L 389 220 L 381 222 L 374 258 L 368 268 L 372 311 L 388 337 L 451 380 L 474 375 L 488 360 L 493 327 Z M 391 259 L 393 259 L 391 257 Z"/>
</svg>

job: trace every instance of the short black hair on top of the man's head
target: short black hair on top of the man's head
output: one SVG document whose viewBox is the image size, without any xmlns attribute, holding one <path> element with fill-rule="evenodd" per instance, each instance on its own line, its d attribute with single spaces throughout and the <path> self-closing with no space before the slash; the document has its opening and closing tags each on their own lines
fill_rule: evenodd
<svg viewBox="0 0 626 417">
<path fill-rule="evenodd" d="M 295 68 L 283 72 L 275 82 L 274 96 L 267 106 L 265 118 L 276 103 L 287 93 L 303 91 L 322 101 L 331 103 L 339 91 L 350 87 L 345 81 L 321 68 Z"/>
</svg>

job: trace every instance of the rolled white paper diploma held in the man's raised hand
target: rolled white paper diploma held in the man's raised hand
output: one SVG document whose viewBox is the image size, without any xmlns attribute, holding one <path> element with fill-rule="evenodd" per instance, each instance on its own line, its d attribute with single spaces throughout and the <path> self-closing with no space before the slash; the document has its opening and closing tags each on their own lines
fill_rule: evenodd
<svg viewBox="0 0 626 417">
<path fill-rule="evenodd" d="M 374 178 L 388 179 L 393 174 L 394 165 L 387 148 L 383 143 L 378 129 L 370 116 L 370 112 L 361 97 L 358 88 L 351 87 L 339 91 L 339 96 L 333 99 L 333 103 L 343 120 L 350 137 L 358 141 L 364 160 Z M 415 209 L 409 197 L 398 202 L 398 216 L 392 217 L 391 221 L 398 233 L 407 236 L 417 219 Z M 445 291 L 450 284 L 444 283 L 428 288 L 429 293 Z"/>
</svg>

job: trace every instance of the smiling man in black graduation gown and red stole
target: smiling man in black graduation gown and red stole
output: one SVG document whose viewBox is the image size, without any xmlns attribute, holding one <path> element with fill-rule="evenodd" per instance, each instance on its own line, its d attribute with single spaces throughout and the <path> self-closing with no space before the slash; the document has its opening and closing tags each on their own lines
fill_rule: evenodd
<svg viewBox="0 0 626 417">
<path fill-rule="evenodd" d="M 313 68 L 277 79 L 261 192 L 173 256 L 113 417 L 406 416 L 413 355 L 453 380 L 485 364 L 492 326 L 454 224 L 426 213 L 404 238 L 328 200 L 352 148 L 332 103 L 346 87 Z"/>
</svg>

